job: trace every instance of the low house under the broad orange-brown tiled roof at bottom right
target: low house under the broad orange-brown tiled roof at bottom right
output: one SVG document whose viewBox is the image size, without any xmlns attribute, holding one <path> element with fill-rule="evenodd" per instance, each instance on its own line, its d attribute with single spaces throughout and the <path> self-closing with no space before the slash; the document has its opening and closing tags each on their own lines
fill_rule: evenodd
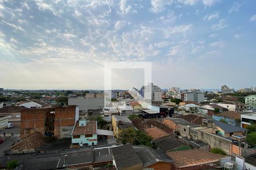
<svg viewBox="0 0 256 170">
<path fill-rule="evenodd" d="M 201 149 L 167 152 L 167 155 L 174 160 L 171 169 L 210 169 L 220 165 L 221 159 L 228 156 L 213 154 Z"/>
</svg>

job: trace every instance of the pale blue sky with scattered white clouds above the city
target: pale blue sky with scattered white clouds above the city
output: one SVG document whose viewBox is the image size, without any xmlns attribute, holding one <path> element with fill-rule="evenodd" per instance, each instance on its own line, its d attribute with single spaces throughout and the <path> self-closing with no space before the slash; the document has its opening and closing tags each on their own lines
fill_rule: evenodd
<svg viewBox="0 0 256 170">
<path fill-rule="evenodd" d="M 152 62 L 161 88 L 256 87 L 255 6 L 0 0 L 0 87 L 102 90 L 109 61 Z M 139 87 L 143 78 L 143 70 L 114 69 L 113 88 Z"/>
</svg>

